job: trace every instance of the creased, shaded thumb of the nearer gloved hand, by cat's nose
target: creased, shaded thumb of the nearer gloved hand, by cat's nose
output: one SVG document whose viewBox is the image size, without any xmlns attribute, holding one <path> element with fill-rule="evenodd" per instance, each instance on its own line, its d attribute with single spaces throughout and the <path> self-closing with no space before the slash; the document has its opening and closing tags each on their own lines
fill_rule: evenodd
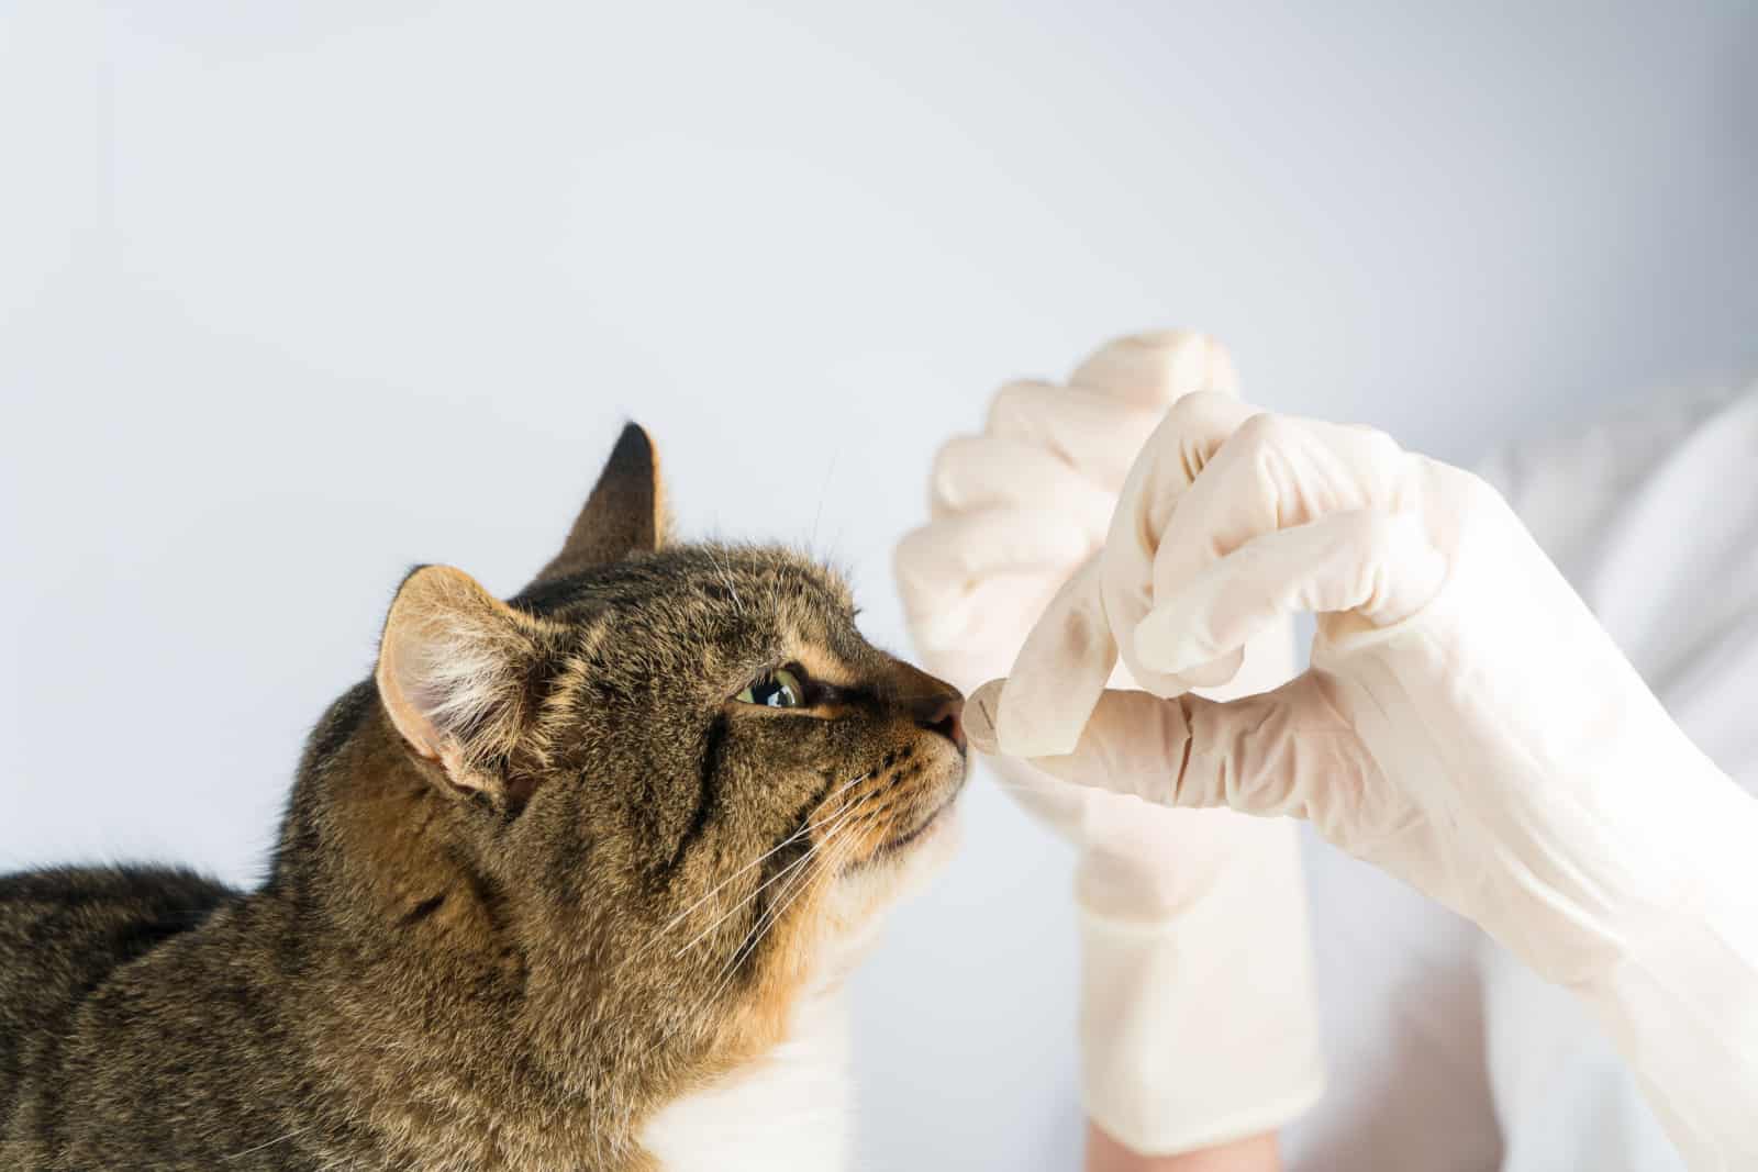
<svg viewBox="0 0 1758 1172">
<path fill-rule="evenodd" d="M 995 734 L 1006 680 L 965 705 L 965 733 L 981 752 L 1006 752 Z M 1354 731 L 1311 673 L 1232 701 L 1109 689 L 1074 752 L 1030 757 L 1079 785 L 1167 807 L 1229 807 L 1260 817 L 1313 817 L 1326 787 L 1357 789 L 1364 768 Z"/>
</svg>

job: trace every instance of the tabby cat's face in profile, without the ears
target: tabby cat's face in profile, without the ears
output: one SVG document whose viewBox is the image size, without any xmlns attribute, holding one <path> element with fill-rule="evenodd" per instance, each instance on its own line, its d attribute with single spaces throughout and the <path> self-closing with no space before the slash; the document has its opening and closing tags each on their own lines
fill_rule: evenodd
<svg viewBox="0 0 1758 1172">
<path fill-rule="evenodd" d="M 524 817 L 552 865 L 614 872 L 577 872 L 592 891 L 563 910 L 614 900 L 622 944 L 650 940 L 640 963 L 761 984 L 849 944 L 944 854 L 962 699 L 874 648 L 823 568 L 682 546 L 519 601 L 571 634 Z"/>
</svg>

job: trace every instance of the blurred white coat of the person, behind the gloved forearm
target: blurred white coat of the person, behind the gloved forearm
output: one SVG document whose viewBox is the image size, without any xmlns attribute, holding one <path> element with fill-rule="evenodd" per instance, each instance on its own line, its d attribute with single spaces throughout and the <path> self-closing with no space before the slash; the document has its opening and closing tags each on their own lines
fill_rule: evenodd
<svg viewBox="0 0 1758 1172">
<path fill-rule="evenodd" d="M 1640 404 L 1484 469 L 1686 734 L 1758 791 L 1758 385 Z M 1686 1160 L 1600 1024 L 1484 951 L 1503 1172 Z"/>
</svg>

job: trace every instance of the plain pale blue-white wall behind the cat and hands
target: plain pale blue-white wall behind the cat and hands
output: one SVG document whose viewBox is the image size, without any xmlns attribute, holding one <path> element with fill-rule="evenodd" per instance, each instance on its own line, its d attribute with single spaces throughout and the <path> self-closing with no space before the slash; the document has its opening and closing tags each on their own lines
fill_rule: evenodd
<svg viewBox="0 0 1758 1172">
<path fill-rule="evenodd" d="M 399 573 L 517 589 L 626 416 L 902 648 L 932 450 L 1109 334 L 1450 459 L 1754 369 L 1754 54 L 1746 4 L 0 0 L 0 870 L 248 882 Z M 860 984 L 867 1168 L 1074 1160 L 1067 857 L 969 831 Z M 1384 1128 L 1412 905 L 1310 863 Z"/>
</svg>

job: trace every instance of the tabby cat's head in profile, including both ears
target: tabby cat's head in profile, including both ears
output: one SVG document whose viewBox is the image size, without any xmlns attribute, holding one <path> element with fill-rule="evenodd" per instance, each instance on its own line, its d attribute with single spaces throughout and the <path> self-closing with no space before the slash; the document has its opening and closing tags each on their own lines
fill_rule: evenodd
<svg viewBox="0 0 1758 1172">
<path fill-rule="evenodd" d="M 631 425 L 519 596 L 404 580 L 376 685 L 534 1012 L 738 1049 L 949 850 L 962 698 L 872 647 L 823 566 L 665 531 Z M 408 914 L 432 898 L 410 889 Z"/>
</svg>

